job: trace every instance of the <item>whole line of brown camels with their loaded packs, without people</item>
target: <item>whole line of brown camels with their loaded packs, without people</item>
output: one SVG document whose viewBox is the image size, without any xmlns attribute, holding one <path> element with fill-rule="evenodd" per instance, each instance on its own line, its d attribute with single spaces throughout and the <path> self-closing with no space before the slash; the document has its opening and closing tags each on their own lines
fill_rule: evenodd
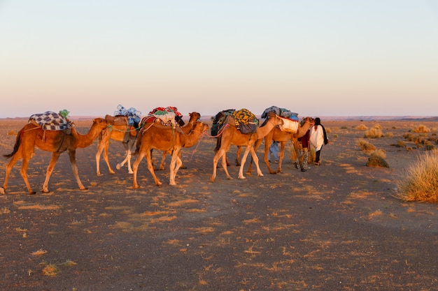
<svg viewBox="0 0 438 291">
<path fill-rule="evenodd" d="M 6 174 L 0 194 L 5 194 L 8 188 L 8 178 L 13 166 L 22 159 L 20 174 L 27 187 L 28 194 L 36 194 L 32 190 L 27 177 L 27 168 L 34 149 L 37 147 L 43 151 L 51 151 L 52 158 L 48 165 L 42 192 L 49 193 L 48 184 L 50 176 L 55 168 L 59 156 L 66 151 L 69 154 L 73 175 L 76 178 L 80 190 L 86 190 L 80 181 L 78 165 L 76 164 L 76 149 L 89 147 L 98 140 L 96 158 L 96 173 L 102 176 L 100 171 L 100 157 L 104 153 L 104 161 L 110 174 L 115 174 L 108 160 L 108 147 L 110 140 L 122 142 L 125 148 L 125 159 L 117 164 L 117 170 L 127 163 L 129 174 L 133 174 L 133 188 L 139 188 L 137 183 L 137 172 L 143 158 L 146 158 L 147 168 L 152 175 L 155 185 L 160 186 L 162 182 L 155 175 L 155 170 L 164 170 L 165 158 L 171 154 L 169 165 L 169 184 L 176 185 L 176 174 L 183 167 L 181 160 L 181 149 L 194 147 L 201 142 L 202 137 L 216 138 L 216 148 L 213 157 L 213 174 L 211 182 L 216 179 L 218 162 L 222 158 L 222 168 L 227 179 L 232 179 L 227 170 L 227 151 L 231 144 L 234 144 L 237 151 L 236 164 L 239 165 L 238 179 L 246 179 L 243 175 L 243 167 L 246 158 L 250 154 L 251 161 L 247 174 L 250 174 L 250 167 L 255 163 L 257 176 L 262 177 L 259 160 L 256 151 L 264 141 L 264 163 L 266 163 L 271 174 L 281 172 L 285 143 L 290 140 L 295 151 L 298 147 L 297 139 L 304 135 L 313 124 L 311 117 L 299 120 L 297 113 L 290 112 L 284 108 L 271 106 L 264 110 L 260 121 L 255 115 L 246 109 L 222 110 L 211 120 L 211 128 L 201 121 L 199 112 L 191 112 L 187 124 L 183 121 L 183 114 L 178 112 L 176 107 L 157 107 L 150 111 L 145 117 L 141 112 L 131 107 L 128 110 L 122 105 L 117 107 L 114 115 L 106 115 L 104 118 L 96 118 L 88 133 L 81 135 L 76 131 L 75 124 L 69 120 L 67 110 L 56 112 L 43 112 L 33 114 L 29 122 L 17 133 L 13 151 L 4 154 L 3 157 L 10 158 L 6 165 Z M 210 129 L 210 130 L 209 130 Z M 210 131 L 211 135 L 208 134 Z M 276 171 L 271 170 L 268 153 L 272 141 L 280 142 L 280 161 Z M 244 148 L 243 156 L 240 159 L 241 151 Z M 162 151 L 160 167 L 153 165 L 153 150 Z M 131 157 L 136 156 L 131 164 Z"/>
</svg>

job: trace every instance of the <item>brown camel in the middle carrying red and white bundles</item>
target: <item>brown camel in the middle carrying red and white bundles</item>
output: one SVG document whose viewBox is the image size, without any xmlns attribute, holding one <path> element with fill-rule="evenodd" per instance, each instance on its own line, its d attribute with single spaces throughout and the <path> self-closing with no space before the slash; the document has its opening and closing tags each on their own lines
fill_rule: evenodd
<svg viewBox="0 0 438 291">
<path fill-rule="evenodd" d="M 169 184 L 176 185 L 176 173 L 183 163 L 180 158 L 181 148 L 193 147 L 208 129 L 209 126 L 202 121 L 196 121 L 195 126 L 188 134 L 177 132 L 173 126 L 163 126 L 157 122 L 150 124 L 150 126 L 144 126 L 137 138 L 137 148 L 135 152 L 137 158 L 132 165 L 132 170 L 134 171 L 133 188 L 139 188 L 139 184 L 137 184 L 137 171 L 139 170 L 141 160 L 145 156 L 148 163 L 148 170 L 154 178 L 155 185 L 162 185 L 160 180 L 155 176 L 151 149 L 172 152 Z"/>
</svg>

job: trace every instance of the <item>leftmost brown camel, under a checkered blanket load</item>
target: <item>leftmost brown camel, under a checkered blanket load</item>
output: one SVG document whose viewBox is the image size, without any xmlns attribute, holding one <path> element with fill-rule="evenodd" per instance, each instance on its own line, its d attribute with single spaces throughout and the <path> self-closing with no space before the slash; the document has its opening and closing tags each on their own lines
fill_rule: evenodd
<svg viewBox="0 0 438 291">
<path fill-rule="evenodd" d="M 49 193 L 48 184 L 50 175 L 55 168 L 59 156 L 64 151 L 69 153 L 71 168 L 74 177 L 76 177 L 76 181 L 78 182 L 79 189 L 87 190 L 79 179 L 78 165 L 76 165 L 76 149 L 89 147 L 94 140 L 96 140 L 101 131 L 107 126 L 108 121 L 102 118 L 97 118 L 93 120 L 90 131 L 85 135 L 80 135 L 76 132 L 74 127 L 71 128 L 71 134 L 67 134 L 64 130 L 43 130 L 41 126 L 33 123 L 25 125 L 17 134 L 13 152 L 8 155 L 3 155 L 5 158 L 11 158 L 11 160 L 8 165 L 6 165 L 6 177 L 3 186 L 0 188 L 0 193 L 6 193 L 10 171 L 15 163 L 22 158 L 23 161 L 20 174 L 24 179 L 24 184 L 27 186 L 28 194 L 36 194 L 35 191 L 32 191 L 27 177 L 27 167 L 29 166 L 31 157 L 34 155 L 35 147 L 43 151 L 52 152 L 52 158 L 50 159 L 50 164 L 48 165 L 45 174 L 45 181 L 42 189 L 43 193 Z"/>
</svg>

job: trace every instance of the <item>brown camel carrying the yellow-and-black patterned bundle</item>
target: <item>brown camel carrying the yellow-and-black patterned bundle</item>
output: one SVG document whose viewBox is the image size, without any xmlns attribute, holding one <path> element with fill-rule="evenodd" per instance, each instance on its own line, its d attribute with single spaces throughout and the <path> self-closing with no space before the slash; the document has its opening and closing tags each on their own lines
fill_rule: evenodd
<svg viewBox="0 0 438 291">
<path fill-rule="evenodd" d="M 270 112 L 266 124 L 258 127 L 255 133 L 243 134 L 240 132 L 240 130 L 236 128 L 234 123 L 234 117 L 232 117 L 232 115 L 229 115 L 229 117 L 227 117 L 226 124 L 219 130 L 221 139 L 220 148 L 216 151 L 216 154 L 213 158 L 213 174 L 211 176 L 211 181 L 214 182 L 214 180 L 216 179 L 216 167 L 218 166 L 218 161 L 220 158 L 222 158 L 222 167 L 225 170 L 227 179 L 232 179 L 232 177 L 229 176 L 227 170 L 226 156 L 231 144 L 246 147 L 241 159 L 238 179 L 246 179 L 246 177 L 243 176 L 243 166 L 245 165 L 246 157 L 249 153 L 251 153 L 253 161 L 255 162 L 255 166 L 257 167 L 258 176 L 262 177 L 263 174 L 259 167 L 257 154 L 255 154 L 254 144 L 257 140 L 260 140 L 261 138 L 269 134 L 274 127 L 281 124 L 283 124 L 283 119 L 278 117 L 274 112 Z"/>
</svg>

